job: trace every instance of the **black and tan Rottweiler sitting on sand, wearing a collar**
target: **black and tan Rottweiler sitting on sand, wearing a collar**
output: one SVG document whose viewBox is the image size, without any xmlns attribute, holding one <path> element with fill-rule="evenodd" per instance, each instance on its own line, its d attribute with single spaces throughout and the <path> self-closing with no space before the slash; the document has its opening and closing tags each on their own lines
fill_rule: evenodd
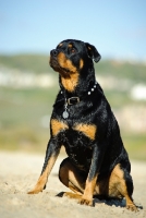
<svg viewBox="0 0 146 218">
<path fill-rule="evenodd" d="M 46 187 L 48 175 L 63 145 L 68 158 L 60 165 L 59 179 L 81 204 L 92 205 L 93 197 L 126 199 L 126 208 L 137 210 L 132 199 L 131 164 L 123 146 L 118 122 L 95 78 L 97 49 L 81 40 L 68 39 L 50 52 L 50 66 L 59 72 L 61 90 L 50 120 L 41 174 L 29 194 Z"/>
</svg>

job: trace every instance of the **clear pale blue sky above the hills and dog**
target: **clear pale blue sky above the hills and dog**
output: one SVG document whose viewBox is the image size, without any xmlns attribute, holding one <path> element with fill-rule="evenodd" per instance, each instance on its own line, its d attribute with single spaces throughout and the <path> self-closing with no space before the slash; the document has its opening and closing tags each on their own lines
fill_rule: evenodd
<svg viewBox="0 0 146 218">
<path fill-rule="evenodd" d="M 146 0 L 0 0 L 0 53 L 49 53 L 66 38 L 146 60 Z"/>
</svg>

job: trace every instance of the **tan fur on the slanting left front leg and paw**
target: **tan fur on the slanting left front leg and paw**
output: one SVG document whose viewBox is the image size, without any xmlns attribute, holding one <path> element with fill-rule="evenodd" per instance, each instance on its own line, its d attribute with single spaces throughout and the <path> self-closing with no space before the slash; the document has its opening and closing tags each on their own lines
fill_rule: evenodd
<svg viewBox="0 0 146 218">
<path fill-rule="evenodd" d="M 47 181 L 48 181 L 48 177 L 50 174 L 50 171 L 56 162 L 57 156 L 52 156 L 50 157 L 48 165 L 45 169 L 45 171 L 42 172 L 42 174 L 39 177 L 37 184 L 35 185 L 35 187 L 28 192 L 28 194 L 37 194 L 39 192 L 42 192 L 44 186 L 46 185 Z"/>
</svg>

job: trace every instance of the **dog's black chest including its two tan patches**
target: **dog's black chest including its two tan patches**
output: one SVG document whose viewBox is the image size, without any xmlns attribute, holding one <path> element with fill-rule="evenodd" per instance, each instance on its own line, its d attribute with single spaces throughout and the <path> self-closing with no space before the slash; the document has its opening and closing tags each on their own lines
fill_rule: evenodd
<svg viewBox="0 0 146 218">
<path fill-rule="evenodd" d="M 93 154 L 93 141 L 96 135 L 94 124 L 51 120 L 52 135 L 64 145 L 70 159 L 81 170 L 85 170 L 90 165 Z M 85 168 L 85 169 L 84 169 Z"/>
</svg>

